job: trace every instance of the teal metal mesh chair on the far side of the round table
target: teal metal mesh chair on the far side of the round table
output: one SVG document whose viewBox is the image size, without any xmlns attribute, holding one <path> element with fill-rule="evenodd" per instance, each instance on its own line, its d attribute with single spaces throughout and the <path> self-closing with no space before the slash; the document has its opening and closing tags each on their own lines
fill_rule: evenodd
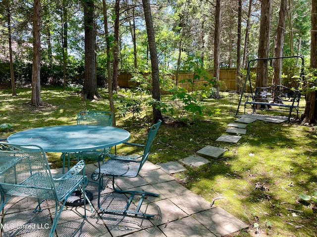
<svg viewBox="0 0 317 237">
<path fill-rule="evenodd" d="M 111 126 L 112 125 L 112 113 L 108 111 L 81 111 L 77 115 L 77 125 L 98 125 L 98 126 Z M 86 161 L 91 160 L 99 160 L 99 156 L 102 155 L 102 160 L 105 158 L 106 153 L 110 152 L 110 147 L 85 151 L 85 152 L 77 152 L 77 153 L 62 153 L 61 159 L 63 160 L 63 172 L 65 166 L 65 160 L 67 158 L 68 164 L 67 167 L 70 167 L 70 160 L 84 159 Z"/>
</svg>

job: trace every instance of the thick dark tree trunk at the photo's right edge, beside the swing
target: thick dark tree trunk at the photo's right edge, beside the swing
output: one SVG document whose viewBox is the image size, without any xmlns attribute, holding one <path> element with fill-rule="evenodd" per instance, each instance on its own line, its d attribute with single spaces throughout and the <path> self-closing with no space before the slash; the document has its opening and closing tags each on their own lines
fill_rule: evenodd
<svg viewBox="0 0 317 237">
<path fill-rule="evenodd" d="M 312 0 L 312 24 L 311 24 L 311 62 L 310 67 L 317 68 L 317 0 Z M 315 75 L 316 76 L 316 75 Z M 316 86 L 316 82 L 308 84 L 310 88 Z M 310 90 L 306 96 L 306 108 L 302 117 L 303 122 L 317 122 L 317 91 Z"/>
</svg>

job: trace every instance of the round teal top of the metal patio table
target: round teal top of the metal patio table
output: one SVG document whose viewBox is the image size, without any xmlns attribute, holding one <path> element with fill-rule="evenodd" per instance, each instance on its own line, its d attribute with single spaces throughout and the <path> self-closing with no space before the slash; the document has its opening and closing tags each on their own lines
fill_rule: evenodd
<svg viewBox="0 0 317 237">
<path fill-rule="evenodd" d="M 45 152 L 80 152 L 112 147 L 126 142 L 130 133 L 112 126 L 64 125 L 37 127 L 7 138 L 16 145 L 38 145 Z"/>
</svg>

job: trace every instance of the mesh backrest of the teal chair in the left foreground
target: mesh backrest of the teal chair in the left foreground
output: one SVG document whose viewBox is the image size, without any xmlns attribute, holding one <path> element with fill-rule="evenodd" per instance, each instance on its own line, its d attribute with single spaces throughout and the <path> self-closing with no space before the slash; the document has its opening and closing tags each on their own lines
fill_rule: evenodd
<svg viewBox="0 0 317 237">
<path fill-rule="evenodd" d="M 42 148 L 0 143 L 0 192 L 19 197 L 56 198 L 55 184 Z"/>
</svg>

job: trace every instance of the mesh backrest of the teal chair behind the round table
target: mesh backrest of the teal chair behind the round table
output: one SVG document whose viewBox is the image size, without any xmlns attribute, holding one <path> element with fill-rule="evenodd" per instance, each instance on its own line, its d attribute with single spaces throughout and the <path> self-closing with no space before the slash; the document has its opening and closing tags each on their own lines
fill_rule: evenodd
<svg viewBox="0 0 317 237">
<path fill-rule="evenodd" d="M 109 111 L 81 111 L 77 115 L 78 125 L 112 125 L 112 113 Z"/>
</svg>

